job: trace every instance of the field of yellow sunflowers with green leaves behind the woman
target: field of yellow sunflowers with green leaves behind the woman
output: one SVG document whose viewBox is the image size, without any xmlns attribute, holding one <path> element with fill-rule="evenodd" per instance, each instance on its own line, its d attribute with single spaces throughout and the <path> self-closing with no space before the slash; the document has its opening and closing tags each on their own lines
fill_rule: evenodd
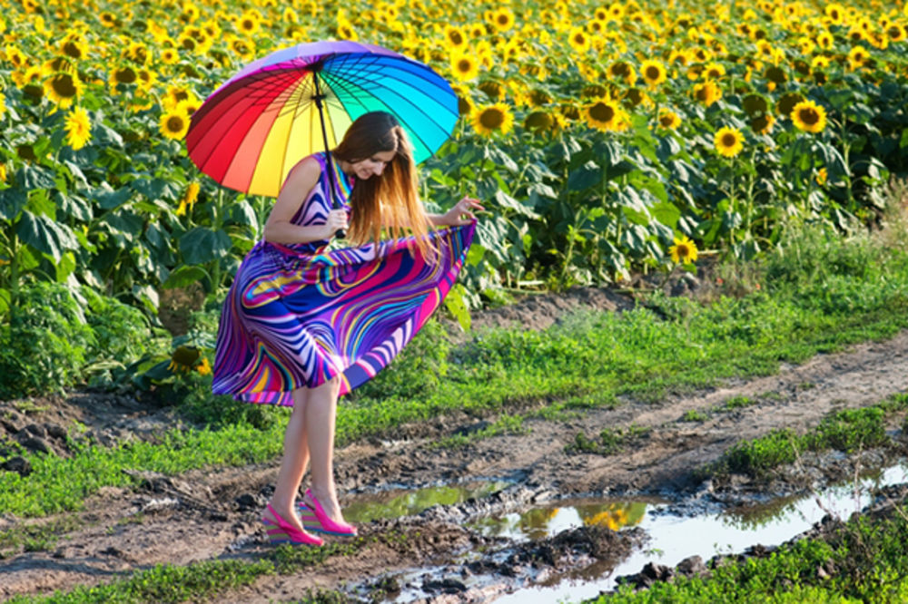
<svg viewBox="0 0 908 604">
<path fill-rule="evenodd" d="M 150 316 L 166 288 L 216 297 L 271 200 L 195 168 L 190 116 L 244 64 L 300 42 L 381 44 L 454 86 L 461 120 L 420 166 L 422 195 L 491 210 L 469 253 L 472 304 L 689 264 L 698 248 L 753 258 L 792 223 L 872 225 L 880 188 L 906 171 L 908 4 L 0 5 L 7 324 L 41 281 Z"/>
</svg>

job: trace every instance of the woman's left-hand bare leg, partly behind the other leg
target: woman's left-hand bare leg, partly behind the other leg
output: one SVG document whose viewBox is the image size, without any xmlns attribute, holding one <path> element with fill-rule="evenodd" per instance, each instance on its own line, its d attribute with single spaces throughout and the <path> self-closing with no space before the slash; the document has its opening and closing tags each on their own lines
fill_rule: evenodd
<svg viewBox="0 0 908 604">
<path fill-rule="evenodd" d="M 300 488 L 302 475 L 309 463 L 309 443 L 306 430 L 306 406 L 309 404 L 309 388 L 297 388 L 293 391 L 293 411 L 284 433 L 284 453 L 281 459 L 281 470 L 278 481 L 271 495 L 271 506 L 293 525 L 302 524 L 294 510 L 296 493 Z M 265 511 L 270 516 L 270 512 Z M 274 519 L 276 520 L 276 519 Z"/>
</svg>

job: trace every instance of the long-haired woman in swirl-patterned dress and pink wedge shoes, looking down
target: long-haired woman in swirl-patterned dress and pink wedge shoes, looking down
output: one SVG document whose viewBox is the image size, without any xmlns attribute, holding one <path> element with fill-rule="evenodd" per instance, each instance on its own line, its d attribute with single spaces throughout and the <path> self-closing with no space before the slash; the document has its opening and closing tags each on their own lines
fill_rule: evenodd
<svg viewBox="0 0 908 604">
<path fill-rule="evenodd" d="M 262 516 L 272 542 L 321 545 L 306 529 L 356 534 L 334 485 L 338 397 L 388 365 L 439 306 L 473 239 L 472 212 L 483 209 L 465 197 L 444 214 L 425 213 L 410 142 L 389 113 L 360 116 L 328 159 L 317 153 L 291 169 L 218 330 L 214 393 L 293 407 Z M 327 250 L 348 228 L 351 247 Z M 379 241 L 382 228 L 390 240 Z"/>
</svg>

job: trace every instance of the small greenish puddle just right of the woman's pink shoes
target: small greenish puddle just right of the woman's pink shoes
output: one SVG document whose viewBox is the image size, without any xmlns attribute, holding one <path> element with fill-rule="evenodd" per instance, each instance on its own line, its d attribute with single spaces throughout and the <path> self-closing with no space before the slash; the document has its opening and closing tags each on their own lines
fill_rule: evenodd
<svg viewBox="0 0 908 604">
<path fill-rule="evenodd" d="M 422 489 L 393 489 L 358 495 L 355 502 L 344 508 L 347 521 L 368 522 L 388 520 L 418 514 L 433 505 L 455 505 L 469 499 L 480 499 L 500 491 L 509 482 L 465 482 L 459 485 L 425 487 Z"/>
</svg>

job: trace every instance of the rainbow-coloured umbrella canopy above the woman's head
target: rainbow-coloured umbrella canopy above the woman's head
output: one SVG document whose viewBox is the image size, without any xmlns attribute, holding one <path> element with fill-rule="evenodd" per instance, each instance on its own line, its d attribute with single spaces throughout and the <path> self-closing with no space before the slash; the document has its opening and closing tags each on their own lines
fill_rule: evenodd
<svg viewBox="0 0 908 604">
<path fill-rule="evenodd" d="M 397 118 L 419 162 L 448 140 L 457 95 L 425 64 L 381 46 L 297 44 L 250 63 L 214 91 L 192 114 L 186 149 L 222 185 L 277 197 L 297 161 L 326 151 L 322 127 L 332 148 L 350 123 L 374 111 Z"/>
</svg>

